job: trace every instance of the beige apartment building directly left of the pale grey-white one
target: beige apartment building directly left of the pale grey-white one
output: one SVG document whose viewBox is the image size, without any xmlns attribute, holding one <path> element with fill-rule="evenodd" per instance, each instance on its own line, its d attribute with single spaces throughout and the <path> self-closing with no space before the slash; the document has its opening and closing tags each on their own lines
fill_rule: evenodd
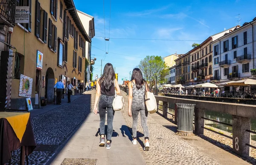
<svg viewBox="0 0 256 165">
<path fill-rule="evenodd" d="M 192 68 L 190 85 L 206 82 L 209 83 L 211 80 L 217 78 L 212 78 L 212 41 L 218 40 L 219 37 L 222 37 L 232 29 L 233 28 L 230 28 L 208 37 L 199 46 L 189 51 Z"/>
</svg>

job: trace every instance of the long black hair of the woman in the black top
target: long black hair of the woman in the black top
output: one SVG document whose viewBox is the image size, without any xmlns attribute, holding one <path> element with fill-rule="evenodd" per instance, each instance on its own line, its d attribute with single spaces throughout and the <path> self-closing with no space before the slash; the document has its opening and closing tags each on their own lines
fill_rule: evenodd
<svg viewBox="0 0 256 165">
<path fill-rule="evenodd" d="M 111 63 L 107 63 L 104 67 L 102 77 L 99 78 L 99 83 L 103 83 L 107 91 L 111 90 L 111 86 L 114 85 L 116 74 Z"/>
</svg>

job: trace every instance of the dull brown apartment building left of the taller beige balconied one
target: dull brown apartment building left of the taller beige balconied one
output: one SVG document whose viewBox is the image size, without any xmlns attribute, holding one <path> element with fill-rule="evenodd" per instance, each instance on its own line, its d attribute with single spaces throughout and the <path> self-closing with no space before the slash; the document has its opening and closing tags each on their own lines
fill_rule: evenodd
<svg viewBox="0 0 256 165">
<path fill-rule="evenodd" d="M 175 83 L 188 85 L 190 82 L 190 54 L 189 52 L 175 60 Z"/>
</svg>

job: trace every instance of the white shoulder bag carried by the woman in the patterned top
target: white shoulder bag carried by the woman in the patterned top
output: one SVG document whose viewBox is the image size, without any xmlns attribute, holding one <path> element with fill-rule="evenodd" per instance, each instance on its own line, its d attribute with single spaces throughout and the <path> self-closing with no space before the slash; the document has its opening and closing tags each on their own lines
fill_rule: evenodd
<svg viewBox="0 0 256 165">
<path fill-rule="evenodd" d="M 145 105 L 150 114 L 154 114 L 157 111 L 157 100 L 154 94 L 149 91 L 149 88 L 147 92 L 145 91 Z"/>
</svg>

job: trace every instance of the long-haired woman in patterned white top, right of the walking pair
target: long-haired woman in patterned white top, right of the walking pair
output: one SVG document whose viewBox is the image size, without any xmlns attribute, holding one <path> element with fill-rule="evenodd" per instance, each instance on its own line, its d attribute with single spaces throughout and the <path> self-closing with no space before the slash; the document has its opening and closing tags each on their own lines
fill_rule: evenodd
<svg viewBox="0 0 256 165">
<path fill-rule="evenodd" d="M 143 79 L 142 73 L 139 68 L 134 68 L 132 71 L 131 81 L 128 83 L 129 87 L 129 110 L 128 115 L 132 116 L 132 135 L 134 145 L 137 145 L 137 124 L 138 117 L 140 113 L 141 125 L 144 132 L 145 137 L 145 147 L 144 151 L 149 150 L 149 142 L 148 142 L 148 111 L 145 108 L 145 91 L 148 91 L 147 82 Z"/>
</svg>

